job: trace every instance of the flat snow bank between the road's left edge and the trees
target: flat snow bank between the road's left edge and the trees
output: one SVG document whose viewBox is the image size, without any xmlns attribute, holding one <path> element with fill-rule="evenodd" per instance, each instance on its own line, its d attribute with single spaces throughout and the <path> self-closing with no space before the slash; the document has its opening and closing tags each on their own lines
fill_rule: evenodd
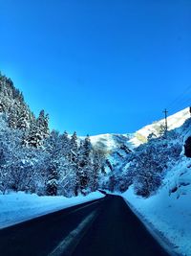
<svg viewBox="0 0 191 256">
<path fill-rule="evenodd" d="M 23 192 L 0 195 L 0 228 L 97 198 L 104 198 L 104 195 L 99 192 L 76 198 L 38 197 Z"/>
</svg>

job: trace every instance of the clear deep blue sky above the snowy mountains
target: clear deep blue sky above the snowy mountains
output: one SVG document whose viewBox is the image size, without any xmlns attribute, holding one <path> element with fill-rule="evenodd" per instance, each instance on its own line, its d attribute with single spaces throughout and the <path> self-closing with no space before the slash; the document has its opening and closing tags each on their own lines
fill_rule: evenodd
<svg viewBox="0 0 191 256">
<path fill-rule="evenodd" d="M 191 85 L 191 1 L 0 0 L 0 70 L 52 128 L 132 132 Z"/>
</svg>

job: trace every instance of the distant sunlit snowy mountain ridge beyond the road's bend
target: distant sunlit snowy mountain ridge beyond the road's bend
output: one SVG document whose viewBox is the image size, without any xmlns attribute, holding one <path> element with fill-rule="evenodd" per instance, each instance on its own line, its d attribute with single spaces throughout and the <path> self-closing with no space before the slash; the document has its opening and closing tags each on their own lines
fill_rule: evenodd
<svg viewBox="0 0 191 256">
<path fill-rule="evenodd" d="M 185 108 L 178 113 L 168 117 L 168 130 L 180 128 L 183 123 L 190 117 L 189 108 Z M 91 136 L 91 143 L 93 147 L 105 153 L 107 162 L 105 171 L 110 174 L 111 171 L 118 172 L 122 178 L 124 169 L 128 169 L 128 157 L 131 151 L 135 151 L 138 146 L 146 144 L 147 137 L 154 133 L 156 138 L 159 137 L 161 126 L 165 123 L 164 119 L 154 122 L 151 125 L 138 129 L 135 133 L 127 134 L 100 134 Z M 178 130 L 177 130 L 178 132 Z M 180 129 L 181 134 L 181 129 Z M 127 164 L 126 164 L 127 161 Z M 118 170 L 118 171 L 117 171 Z M 118 176 L 117 175 L 117 176 Z M 108 182 L 109 175 L 101 176 L 101 182 Z"/>
</svg>

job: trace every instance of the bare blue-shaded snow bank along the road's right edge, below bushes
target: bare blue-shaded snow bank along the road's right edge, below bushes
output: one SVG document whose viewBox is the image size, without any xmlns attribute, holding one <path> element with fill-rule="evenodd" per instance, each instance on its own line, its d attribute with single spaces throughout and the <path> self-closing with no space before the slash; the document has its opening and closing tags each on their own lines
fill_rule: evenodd
<svg viewBox="0 0 191 256">
<path fill-rule="evenodd" d="M 191 255 L 191 161 L 183 160 L 168 172 L 159 193 L 140 198 L 133 187 L 122 194 L 181 255 Z"/>
</svg>

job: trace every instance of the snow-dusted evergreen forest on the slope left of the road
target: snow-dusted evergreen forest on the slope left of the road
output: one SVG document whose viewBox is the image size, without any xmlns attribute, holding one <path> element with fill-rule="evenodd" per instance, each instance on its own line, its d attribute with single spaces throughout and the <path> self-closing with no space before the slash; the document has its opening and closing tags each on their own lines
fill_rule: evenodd
<svg viewBox="0 0 191 256">
<path fill-rule="evenodd" d="M 103 161 L 88 135 L 50 131 L 49 115 L 41 110 L 36 118 L 13 82 L 0 75 L 1 193 L 86 195 L 96 191 Z"/>
</svg>

